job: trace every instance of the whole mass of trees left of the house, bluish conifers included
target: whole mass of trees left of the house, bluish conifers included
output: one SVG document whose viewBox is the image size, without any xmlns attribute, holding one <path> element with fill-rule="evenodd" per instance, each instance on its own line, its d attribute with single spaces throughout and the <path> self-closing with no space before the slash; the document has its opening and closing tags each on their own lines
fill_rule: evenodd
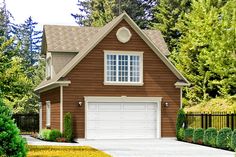
<svg viewBox="0 0 236 157">
<path fill-rule="evenodd" d="M 31 18 L 24 24 L 10 22 L 11 13 L 0 7 L 0 95 L 14 113 L 37 112 L 34 87 L 44 77 L 40 59 L 41 32 Z"/>
</svg>

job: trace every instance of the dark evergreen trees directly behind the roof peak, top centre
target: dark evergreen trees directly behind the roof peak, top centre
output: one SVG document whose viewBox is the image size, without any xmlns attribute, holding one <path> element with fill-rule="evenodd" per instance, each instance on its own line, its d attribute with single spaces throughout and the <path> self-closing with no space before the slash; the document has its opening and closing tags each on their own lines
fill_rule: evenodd
<svg viewBox="0 0 236 157">
<path fill-rule="evenodd" d="M 79 25 L 104 26 L 126 11 L 139 27 L 147 28 L 155 4 L 151 0 L 85 0 L 78 1 L 79 13 L 71 15 Z"/>
</svg>

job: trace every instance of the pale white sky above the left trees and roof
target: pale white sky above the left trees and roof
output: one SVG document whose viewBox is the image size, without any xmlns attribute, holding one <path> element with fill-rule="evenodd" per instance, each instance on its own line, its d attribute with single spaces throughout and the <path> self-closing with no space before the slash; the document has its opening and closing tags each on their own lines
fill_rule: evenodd
<svg viewBox="0 0 236 157">
<path fill-rule="evenodd" d="M 78 0 L 5 0 L 7 10 L 14 16 L 14 23 L 24 23 L 31 16 L 39 23 L 39 29 L 45 24 L 77 25 L 71 13 L 78 12 Z M 0 0 L 2 2 L 2 0 Z"/>
</svg>

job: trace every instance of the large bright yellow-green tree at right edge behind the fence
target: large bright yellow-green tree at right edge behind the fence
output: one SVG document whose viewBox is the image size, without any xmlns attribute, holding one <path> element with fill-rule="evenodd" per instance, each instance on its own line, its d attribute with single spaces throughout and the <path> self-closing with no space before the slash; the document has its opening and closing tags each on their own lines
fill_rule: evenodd
<svg viewBox="0 0 236 157">
<path fill-rule="evenodd" d="M 192 83 L 185 91 L 191 103 L 236 94 L 235 8 L 235 0 L 193 0 L 177 24 L 176 66 Z"/>
</svg>

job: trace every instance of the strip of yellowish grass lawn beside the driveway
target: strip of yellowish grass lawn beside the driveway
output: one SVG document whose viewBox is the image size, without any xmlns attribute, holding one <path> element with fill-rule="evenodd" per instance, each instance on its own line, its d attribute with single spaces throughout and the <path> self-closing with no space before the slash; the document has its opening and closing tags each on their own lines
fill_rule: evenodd
<svg viewBox="0 0 236 157">
<path fill-rule="evenodd" d="M 27 157 L 111 157 L 89 146 L 28 146 Z"/>
</svg>

